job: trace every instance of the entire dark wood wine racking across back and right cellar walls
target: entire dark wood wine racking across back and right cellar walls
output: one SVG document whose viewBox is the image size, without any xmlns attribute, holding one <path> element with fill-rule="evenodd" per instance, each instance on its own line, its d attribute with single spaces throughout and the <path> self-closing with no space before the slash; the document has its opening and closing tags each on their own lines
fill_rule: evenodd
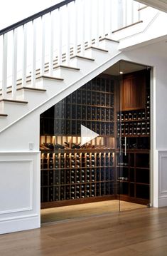
<svg viewBox="0 0 167 256">
<path fill-rule="evenodd" d="M 117 78 L 98 76 L 41 114 L 41 208 L 120 198 L 149 203 L 149 83 L 142 108 L 128 103 L 122 112 L 117 86 Z M 81 145 L 81 125 L 99 136 Z"/>
</svg>

